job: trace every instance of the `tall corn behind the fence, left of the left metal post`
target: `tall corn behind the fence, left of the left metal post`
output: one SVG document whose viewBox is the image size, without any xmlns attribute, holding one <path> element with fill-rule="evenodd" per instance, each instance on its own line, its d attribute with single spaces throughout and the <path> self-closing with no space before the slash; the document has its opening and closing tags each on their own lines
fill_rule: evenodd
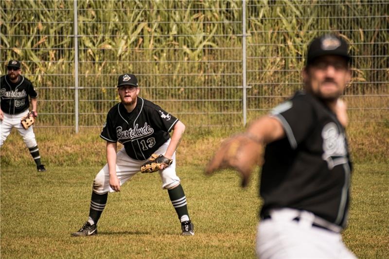
<svg viewBox="0 0 389 259">
<path fill-rule="evenodd" d="M 72 113 L 73 41 L 72 2 L 0 1 L 0 59 L 22 63 L 22 73 L 37 88 L 40 103 L 38 124 L 69 124 Z M 61 76 L 60 76 L 61 75 Z M 53 116 L 55 114 L 55 116 Z"/>
</svg>

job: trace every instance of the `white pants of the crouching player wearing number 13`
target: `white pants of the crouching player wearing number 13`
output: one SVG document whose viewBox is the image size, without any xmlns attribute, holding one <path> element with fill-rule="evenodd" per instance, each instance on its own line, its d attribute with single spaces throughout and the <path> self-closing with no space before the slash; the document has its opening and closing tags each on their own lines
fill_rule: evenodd
<svg viewBox="0 0 389 259">
<path fill-rule="evenodd" d="M 155 152 L 155 154 L 165 154 L 167 147 L 169 146 L 170 139 L 163 143 L 162 146 Z M 173 163 L 159 171 L 159 175 L 162 180 L 162 189 L 170 189 L 177 186 L 180 183 L 180 179 L 176 174 L 176 152 L 173 154 Z M 122 148 L 116 154 L 116 175 L 119 178 L 120 186 L 122 186 L 126 181 L 131 179 L 132 176 L 139 173 L 141 170 L 141 165 L 143 165 L 146 160 L 135 160 L 129 157 L 125 153 L 125 149 Z M 112 188 L 109 186 L 109 171 L 108 164 L 106 164 L 99 173 L 97 173 L 95 179 L 93 180 L 93 191 L 98 194 L 104 194 L 106 192 L 113 192 Z"/>
</svg>

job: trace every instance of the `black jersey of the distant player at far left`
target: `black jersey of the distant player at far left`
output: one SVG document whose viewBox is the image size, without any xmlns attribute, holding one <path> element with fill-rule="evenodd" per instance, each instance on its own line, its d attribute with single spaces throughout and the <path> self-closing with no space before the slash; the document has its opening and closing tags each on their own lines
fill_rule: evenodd
<svg viewBox="0 0 389 259">
<path fill-rule="evenodd" d="M 33 84 L 22 75 L 16 84 L 8 75 L 0 78 L 1 110 L 8 114 L 19 114 L 30 107 L 29 96 L 38 97 Z"/>
</svg>

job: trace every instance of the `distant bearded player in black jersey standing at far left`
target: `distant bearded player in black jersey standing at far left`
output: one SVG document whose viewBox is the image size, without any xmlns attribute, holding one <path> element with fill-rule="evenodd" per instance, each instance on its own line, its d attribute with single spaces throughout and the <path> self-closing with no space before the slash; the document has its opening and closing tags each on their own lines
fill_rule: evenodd
<svg viewBox="0 0 389 259">
<path fill-rule="evenodd" d="M 30 150 L 38 172 L 46 171 L 40 161 L 33 127 L 24 129 L 20 123 L 21 119 L 29 113 L 29 97 L 31 98 L 32 115 L 34 117 L 38 115 L 36 112 L 38 94 L 33 84 L 21 75 L 19 61 L 10 60 L 7 69 L 8 74 L 0 78 L 0 147 L 11 133 L 12 128 L 16 128 Z"/>
</svg>

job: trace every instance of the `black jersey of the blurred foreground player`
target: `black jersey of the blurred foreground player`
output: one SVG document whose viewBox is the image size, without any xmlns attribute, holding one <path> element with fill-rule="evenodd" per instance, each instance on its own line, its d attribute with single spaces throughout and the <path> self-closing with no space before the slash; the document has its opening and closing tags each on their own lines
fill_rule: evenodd
<svg viewBox="0 0 389 259">
<path fill-rule="evenodd" d="M 297 92 L 271 112 L 286 137 L 265 148 L 261 214 L 271 208 L 313 212 L 344 227 L 349 207 L 352 164 L 343 126 L 309 93 Z"/>
</svg>

